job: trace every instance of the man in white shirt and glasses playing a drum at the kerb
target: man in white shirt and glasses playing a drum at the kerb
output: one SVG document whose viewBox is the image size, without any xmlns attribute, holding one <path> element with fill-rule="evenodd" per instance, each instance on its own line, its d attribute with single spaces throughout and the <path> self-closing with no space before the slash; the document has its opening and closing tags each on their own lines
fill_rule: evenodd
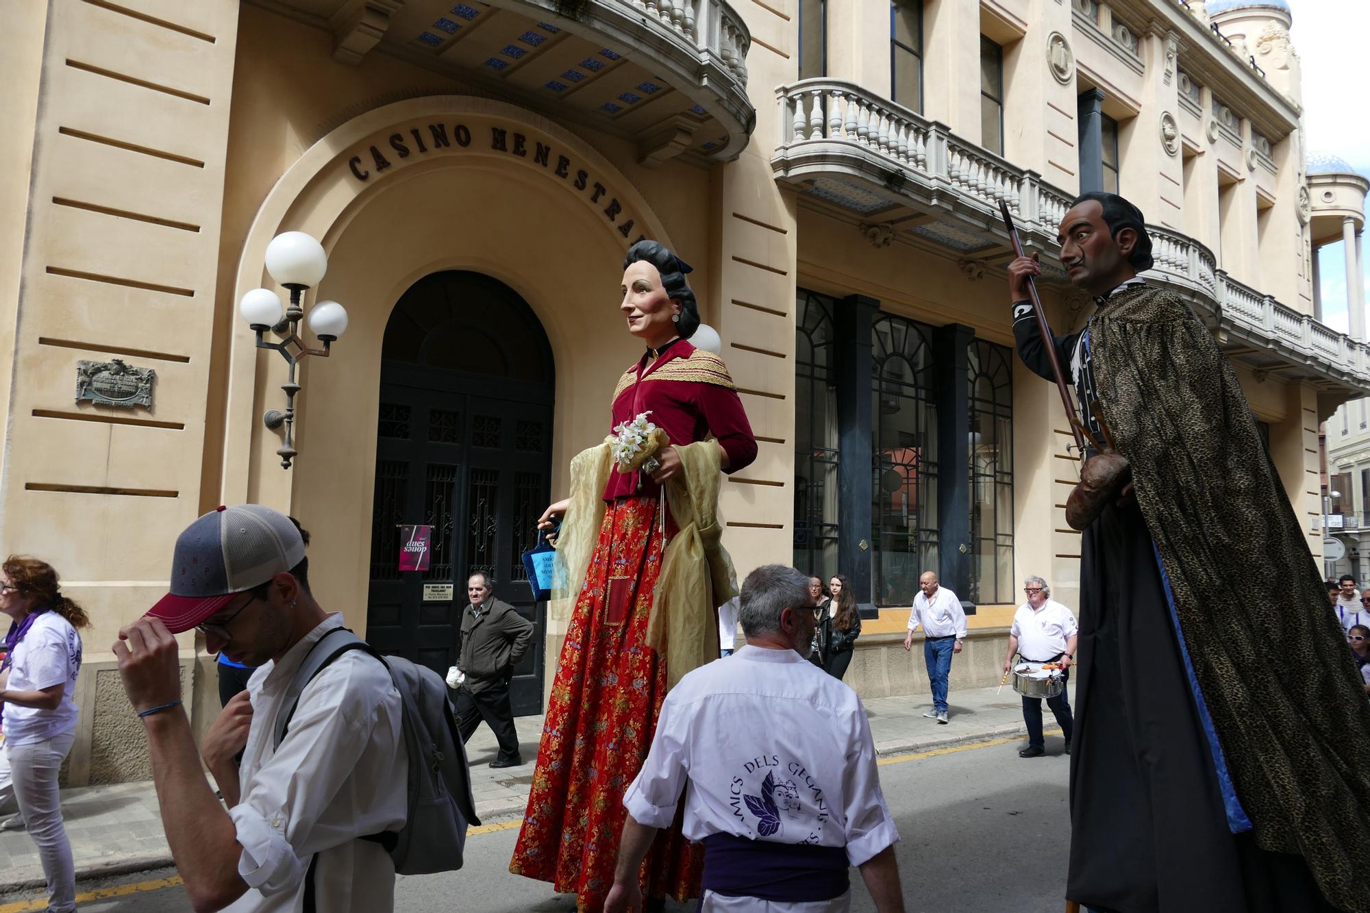
<svg viewBox="0 0 1370 913">
<path fill-rule="evenodd" d="M 1014 668 L 1014 654 L 1022 654 L 1028 662 L 1059 662 L 1060 676 L 1070 680 L 1070 666 L 1075 661 L 1075 639 L 1080 626 L 1070 609 L 1051 598 L 1051 587 L 1041 577 L 1028 577 L 1023 581 L 1028 602 L 1014 613 L 1014 626 L 1008 632 L 1008 655 L 1004 658 L 1004 674 Z M 1060 732 L 1066 738 L 1066 754 L 1070 754 L 1070 733 L 1074 718 L 1070 716 L 1070 695 L 1066 688 L 1055 698 L 1047 698 Z M 1028 724 L 1028 747 L 1018 753 L 1019 758 L 1040 758 L 1047 754 L 1041 735 L 1041 698 L 1023 696 L 1023 722 Z"/>
</svg>

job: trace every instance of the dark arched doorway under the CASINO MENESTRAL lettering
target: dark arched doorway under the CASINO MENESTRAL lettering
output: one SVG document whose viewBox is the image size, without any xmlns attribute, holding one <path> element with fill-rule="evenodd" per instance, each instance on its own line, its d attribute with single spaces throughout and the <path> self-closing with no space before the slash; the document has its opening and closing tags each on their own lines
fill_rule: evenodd
<svg viewBox="0 0 1370 913">
<path fill-rule="evenodd" d="M 467 574 L 484 570 L 537 626 L 514 670 L 519 716 L 543 709 L 547 607 L 533 602 L 521 555 L 549 499 L 553 392 L 541 322 L 489 276 L 425 276 L 385 325 L 367 639 L 445 674 Z M 400 573 L 399 524 L 433 525 L 429 570 Z"/>
</svg>

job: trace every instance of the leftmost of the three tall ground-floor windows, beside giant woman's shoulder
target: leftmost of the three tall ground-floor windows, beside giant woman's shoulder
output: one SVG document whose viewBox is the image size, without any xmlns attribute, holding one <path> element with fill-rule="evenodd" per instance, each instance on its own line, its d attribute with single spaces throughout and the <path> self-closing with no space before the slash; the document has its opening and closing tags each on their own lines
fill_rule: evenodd
<svg viewBox="0 0 1370 913">
<path fill-rule="evenodd" d="M 837 568 L 837 389 L 833 299 L 799 291 L 795 329 L 795 566 Z"/>
</svg>

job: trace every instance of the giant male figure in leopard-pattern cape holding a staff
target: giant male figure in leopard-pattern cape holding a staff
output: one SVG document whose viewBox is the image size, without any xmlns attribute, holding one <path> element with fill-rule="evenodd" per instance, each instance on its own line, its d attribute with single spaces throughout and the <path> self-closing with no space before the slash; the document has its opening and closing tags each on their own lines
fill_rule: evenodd
<svg viewBox="0 0 1370 913">
<path fill-rule="evenodd" d="M 1099 303 L 1051 340 L 1093 441 L 1071 499 L 1066 895 L 1107 913 L 1367 912 L 1370 703 L 1241 385 L 1189 306 L 1137 276 L 1137 207 L 1086 193 L 1059 232 Z M 1038 271 L 1015 259 L 1010 295 L 1018 352 L 1049 378 Z"/>
</svg>

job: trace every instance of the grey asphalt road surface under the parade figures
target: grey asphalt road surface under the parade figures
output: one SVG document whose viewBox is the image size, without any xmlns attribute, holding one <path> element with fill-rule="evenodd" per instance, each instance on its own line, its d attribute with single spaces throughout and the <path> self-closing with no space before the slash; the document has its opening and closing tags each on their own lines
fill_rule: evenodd
<svg viewBox="0 0 1370 913">
<path fill-rule="evenodd" d="M 1048 757 L 1018 758 L 1023 742 L 891 758 L 881 766 L 885 799 L 899 824 L 908 913 L 1060 913 L 1064 909 L 1069 758 L 1059 736 Z M 466 868 L 401 877 L 401 913 L 563 913 L 574 898 L 507 871 L 518 825 L 486 825 L 467 840 Z M 170 883 L 169 883 L 170 881 Z M 874 905 L 852 872 L 852 910 Z M 77 886 L 82 913 L 182 913 L 190 906 L 174 871 Z M 115 894 L 112 895 L 111 894 Z M 42 910 L 34 894 L 0 897 L 0 913 Z M 673 903 L 671 913 L 695 903 Z"/>
</svg>

